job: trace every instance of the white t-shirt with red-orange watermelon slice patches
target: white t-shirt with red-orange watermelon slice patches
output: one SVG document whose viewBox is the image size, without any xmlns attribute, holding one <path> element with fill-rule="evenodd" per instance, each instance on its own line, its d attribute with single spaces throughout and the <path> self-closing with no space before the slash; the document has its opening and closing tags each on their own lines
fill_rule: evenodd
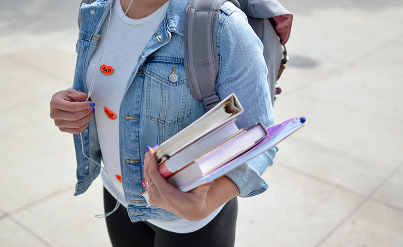
<svg viewBox="0 0 403 247">
<path fill-rule="evenodd" d="M 87 88 L 90 88 L 94 74 L 95 72 L 97 73 L 91 100 L 96 103 L 95 118 L 102 160 L 112 183 L 103 170 L 101 170 L 102 181 L 109 193 L 125 207 L 127 207 L 127 203 L 124 199 L 121 180 L 119 181 L 121 176 L 118 116 L 120 102 L 128 78 L 133 72 L 147 42 L 164 20 L 168 5 L 169 2 L 153 14 L 143 19 L 135 20 L 124 15 L 120 1 L 116 0 L 112 6 L 111 15 L 109 14 L 110 31 L 106 38 L 106 44 L 105 37 L 108 32 L 109 15 L 101 27 L 101 39 L 98 43 L 98 48 L 90 59 L 86 74 Z M 102 58 L 100 60 L 101 54 Z M 104 107 L 108 109 L 108 115 L 105 113 Z M 220 212 L 222 207 L 200 221 L 188 221 L 182 218 L 148 221 L 165 230 L 186 233 L 205 226 Z"/>
</svg>

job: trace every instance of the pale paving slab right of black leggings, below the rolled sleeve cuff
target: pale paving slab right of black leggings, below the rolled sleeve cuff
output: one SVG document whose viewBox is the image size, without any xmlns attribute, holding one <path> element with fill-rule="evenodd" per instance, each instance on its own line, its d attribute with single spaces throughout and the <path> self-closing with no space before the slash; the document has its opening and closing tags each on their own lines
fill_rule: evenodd
<svg viewBox="0 0 403 247">
<path fill-rule="evenodd" d="M 237 247 L 314 246 L 363 200 L 276 165 L 263 175 L 267 191 L 239 198 Z"/>
</svg>

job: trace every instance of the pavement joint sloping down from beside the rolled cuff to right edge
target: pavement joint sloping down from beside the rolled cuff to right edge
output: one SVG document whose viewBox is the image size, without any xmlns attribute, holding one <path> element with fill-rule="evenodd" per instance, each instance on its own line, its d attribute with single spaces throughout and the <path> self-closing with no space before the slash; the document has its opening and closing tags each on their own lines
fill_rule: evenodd
<svg viewBox="0 0 403 247">
<path fill-rule="evenodd" d="M 302 175 L 302 176 L 304 176 L 304 177 L 307 177 L 307 178 L 313 179 L 313 180 L 315 180 L 315 181 L 318 181 L 318 182 L 320 182 L 320 183 L 323 183 L 323 184 L 325 184 L 325 185 L 328 185 L 328 186 L 331 186 L 331 187 L 334 187 L 334 188 L 343 190 L 343 191 L 345 191 L 345 192 L 347 192 L 347 193 L 350 193 L 350 194 L 353 194 L 353 195 L 362 197 L 362 198 L 364 198 L 364 199 L 370 200 L 370 201 L 375 202 L 375 203 L 377 203 L 377 204 L 380 204 L 380 205 L 382 205 L 382 206 L 392 208 L 392 209 L 394 209 L 394 210 L 396 210 L 396 211 L 399 211 L 399 212 L 403 212 L 403 207 L 400 207 L 400 206 L 394 205 L 394 204 L 392 204 L 392 203 L 390 203 L 390 202 L 387 202 L 387 201 L 378 199 L 378 198 L 376 198 L 376 197 L 373 197 L 373 196 L 371 195 L 372 193 L 371 193 L 371 194 L 366 194 L 366 193 L 363 193 L 363 192 L 361 192 L 361 191 L 358 191 L 358 190 L 355 190 L 355 189 L 352 189 L 352 188 L 349 188 L 349 187 L 340 185 L 340 184 L 338 184 L 338 183 L 334 183 L 334 182 L 332 182 L 332 181 L 330 181 L 330 180 L 327 180 L 327 179 L 324 179 L 324 178 L 315 176 L 315 175 L 313 175 L 313 174 L 304 172 L 304 171 L 299 170 L 299 169 L 297 169 L 297 168 L 287 166 L 287 165 L 285 165 L 285 164 L 283 164 L 283 163 L 277 163 L 277 164 L 279 165 L 280 168 L 286 169 L 286 170 L 291 171 L 291 172 L 298 173 L 298 174 L 300 174 L 300 175 Z"/>
</svg>

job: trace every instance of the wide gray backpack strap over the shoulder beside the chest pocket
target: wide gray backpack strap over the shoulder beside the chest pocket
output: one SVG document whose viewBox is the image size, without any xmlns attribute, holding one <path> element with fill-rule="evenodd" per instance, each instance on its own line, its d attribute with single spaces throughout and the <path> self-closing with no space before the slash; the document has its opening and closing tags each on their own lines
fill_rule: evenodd
<svg viewBox="0 0 403 247">
<path fill-rule="evenodd" d="M 193 97 L 203 101 L 207 109 L 220 101 L 216 94 L 216 30 L 220 8 L 225 1 L 190 0 L 186 8 L 183 39 L 187 80 Z"/>
</svg>

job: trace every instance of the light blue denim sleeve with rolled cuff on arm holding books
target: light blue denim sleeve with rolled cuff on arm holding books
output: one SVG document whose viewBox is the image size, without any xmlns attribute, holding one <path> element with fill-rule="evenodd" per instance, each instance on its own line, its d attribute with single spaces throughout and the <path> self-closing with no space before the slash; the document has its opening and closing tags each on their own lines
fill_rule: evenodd
<svg viewBox="0 0 403 247">
<path fill-rule="evenodd" d="M 268 91 L 267 67 L 263 45 L 247 23 L 246 16 L 225 3 L 218 24 L 218 52 L 221 58 L 217 93 L 221 99 L 234 92 L 245 111 L 238 117 L 239 128 L 256 122 L 274 125 L 273 107 Z M 278 148 L 272 148 L 241 165 L 226 176 L 239 188 L 240 197 L 251 197 L 268 188 L 261 177 L 273 165 Z"/>
</svg>

